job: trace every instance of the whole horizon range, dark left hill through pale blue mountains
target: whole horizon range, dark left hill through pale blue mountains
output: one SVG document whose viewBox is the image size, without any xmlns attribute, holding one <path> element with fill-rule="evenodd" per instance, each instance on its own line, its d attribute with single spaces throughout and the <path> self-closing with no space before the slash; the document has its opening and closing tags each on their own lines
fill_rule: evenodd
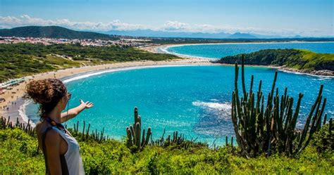
<svg viewBox="0 0 334 175">
<path fill-rule="evenodd" d="M 110 30 L 107 32 L 97 31 L 75 31 L 58 26 L 27 26 L 15 27 L 12 29 L 0 29 L 0 37 L 47 37 L 63 39 L 119 39 L 119 36 L 130 37 L 166 37 L 166 38 L 201 38 L 201 39 L 283 39 L 283 38 L 303 38 L 282 37 L 278 35 L 263 35 L 253 33 L 235 32 L 234 34 L 219 32 L 168 32 L 161 30 Z"/>
</svg>

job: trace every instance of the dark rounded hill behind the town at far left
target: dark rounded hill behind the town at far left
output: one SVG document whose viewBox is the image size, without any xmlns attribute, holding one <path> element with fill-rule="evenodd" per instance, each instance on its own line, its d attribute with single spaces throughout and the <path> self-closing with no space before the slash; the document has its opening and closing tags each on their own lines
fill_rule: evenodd
<svg viewBox="0 0 334 175">
<path fill-rule="evenodd" d="M 44 37 L 58 39 L 116 39 L 109 34 L 97 32 L 79 32 L 58 26 L 27 26 L 1 29 L 0 37 Z"/>
</svg>

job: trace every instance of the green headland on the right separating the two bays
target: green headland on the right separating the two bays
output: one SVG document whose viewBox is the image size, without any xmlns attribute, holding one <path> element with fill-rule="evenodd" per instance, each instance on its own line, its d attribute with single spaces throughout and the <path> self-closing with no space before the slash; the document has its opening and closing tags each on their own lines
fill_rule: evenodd
<svg viewBox="0 0 334 175">
<path fill-rule="evenodd" d="M 218 63 L 234 64 L 241 62 L 242 54 L 225 56 Z M 314 53 L 292 48 L 265 49 L 245 54 L 246 65 L 278 65 L 298 70 L 331 70 L 334 71 L 334 54 Z"/>
</svg>

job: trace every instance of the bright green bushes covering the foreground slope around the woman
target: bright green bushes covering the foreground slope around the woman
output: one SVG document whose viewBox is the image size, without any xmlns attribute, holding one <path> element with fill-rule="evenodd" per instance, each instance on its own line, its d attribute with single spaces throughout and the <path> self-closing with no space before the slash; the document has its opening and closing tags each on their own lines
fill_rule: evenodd
<svg viewBox="0 0 334 175">
<path fill-rule="evenodd" d="M 108 139 L 82 141 L 80 133 L 69 131 L 79 141 L 80 155 L 87 174 L 268 174 L 306 173 L 333 174 L 333 148 L 323 145 L 331 141 L 328 124 L 316 133 L 311 145 L 296 157 L 261 155 L 246 158 L 238 155 L 238 148 L 230 146 L 210 149 L 206 146 L 166 148 L 148 145 L 141 152 L 132 153 L 126 141 Z M 331 138 L 330 138 L 331 136 Z M 16 127 L 0 128 L 0 174 L 44 174 L 44 157 L 37 150 L 37 138 Z"/>
</svg>

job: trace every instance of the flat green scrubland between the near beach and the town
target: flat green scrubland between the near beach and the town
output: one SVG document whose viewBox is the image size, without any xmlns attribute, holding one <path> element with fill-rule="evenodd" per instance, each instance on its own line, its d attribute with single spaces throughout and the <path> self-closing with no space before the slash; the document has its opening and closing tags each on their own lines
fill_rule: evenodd
<svg viewBox="0 0 334 175">
<path fill-rule="evenodd" d="M 150 53 L 130 46 L 80 46 L 80 44 L 0 44 L 0 82 L 28 74 L 81 65 L 132 60 L 170 60 L 179 57 Z"/>
</svg>

